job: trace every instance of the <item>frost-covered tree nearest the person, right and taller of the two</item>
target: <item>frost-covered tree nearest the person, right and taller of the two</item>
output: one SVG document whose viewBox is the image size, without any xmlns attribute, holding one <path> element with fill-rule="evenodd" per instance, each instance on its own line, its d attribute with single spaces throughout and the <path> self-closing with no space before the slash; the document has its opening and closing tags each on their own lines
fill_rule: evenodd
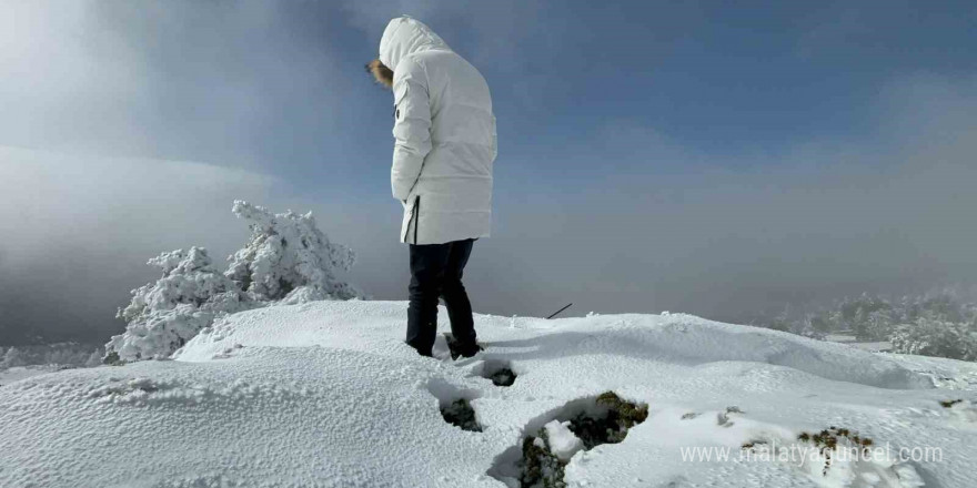
<svg viewBox="0 0 977 488">
<path fill-rule="evenodd" d="M 311 212 L 273 214 L 240 200 L 233 211 L 251 222 L 251 241 L 229 258 L 226 276 L 254 299 L 308 302 L 361 295 L 336 277 L 336 272 L 353 266 L 355 254 L 330 242 Z"/>
</svg>

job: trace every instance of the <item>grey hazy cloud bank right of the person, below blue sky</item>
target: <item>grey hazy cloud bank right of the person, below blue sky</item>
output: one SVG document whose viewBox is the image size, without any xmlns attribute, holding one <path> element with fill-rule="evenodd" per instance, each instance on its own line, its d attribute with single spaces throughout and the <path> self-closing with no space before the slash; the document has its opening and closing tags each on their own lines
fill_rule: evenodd
<svg viewBox="0 0 977 488">
<path fill-rule="evenodd" d="M 506 278 L 482 294 L 494 311 L 541 315 L 575 302 L 576 313 L 728 319 L 788 302 L 969 283 L 975 109 L 974 79 L 899 78 L 880 91 L 872 138 L 741 154 L 613 122 L 553 149 L 561 179 L 532 175 L 517 190 L 525 194 L 498 192 L 496 236 L 476 245 L 487 255 L 473 257 L 470 274 Z"/>
</svg>

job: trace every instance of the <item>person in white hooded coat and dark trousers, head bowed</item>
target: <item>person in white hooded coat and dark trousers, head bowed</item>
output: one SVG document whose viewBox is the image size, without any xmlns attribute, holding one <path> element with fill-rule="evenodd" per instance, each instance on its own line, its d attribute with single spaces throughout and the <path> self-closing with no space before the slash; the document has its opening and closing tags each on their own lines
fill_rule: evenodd
<svg viewBox="0 0 977 488">
<path fill-rule="evenodd" d="M 380 58 L 367 70 L 393 90 L 390 177 L 404 207 L 400 240 L 411 258 L 406 343 L 432 355 L 442 297 L 455 350 L 474 356 L 481 347 L 462 272 L 492 220 L 497 145 L 488 85 L 427 26 L 409 17 L 390 21 Z"/>
</svg>

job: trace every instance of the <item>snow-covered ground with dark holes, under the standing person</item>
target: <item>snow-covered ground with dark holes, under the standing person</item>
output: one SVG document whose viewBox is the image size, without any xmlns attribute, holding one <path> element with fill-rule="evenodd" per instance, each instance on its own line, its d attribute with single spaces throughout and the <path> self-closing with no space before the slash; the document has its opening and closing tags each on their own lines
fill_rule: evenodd
<svg viewBox="0 0 977 488">
<path fill-rule="evenodd" d="M 405 308 L 261 308 L 205 329 L 175 360 L 4 384 L 0 486 L 517 486 L 522 440 L 541 429 L 572 455 L 573 487 L 977 486 L 968 363 L 681 314 L 476 316 L 485 352 L 451 362 L 441 338 L 441 359 L 401 342 Z M 483 377 L 503 366 L 517 374 L 512 386 Z M 647 404 L 647 419 L 620 444 L 581 449 L 565 417 L 607 390 Z M 482 431 L 442 418 L 459 398 Z M 894 456 L 832 451 L 827 469 L 784 456 L 814 446 L 802 433 L 829 427 Z M 913 460 L 913 448 L 930 450 Z"/>
</svg>

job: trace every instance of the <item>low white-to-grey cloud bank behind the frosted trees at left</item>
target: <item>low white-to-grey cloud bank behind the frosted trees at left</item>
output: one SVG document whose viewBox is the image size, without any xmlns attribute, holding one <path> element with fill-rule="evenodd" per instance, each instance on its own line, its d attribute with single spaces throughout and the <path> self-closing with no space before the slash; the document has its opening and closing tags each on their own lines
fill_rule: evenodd
<svg viewBox="0 0 977 488">
<path fill-rule="evenodd" d="M 0 148 L 0 344 L 22 333 L 82 339 L 117 331 L 145 261 L 204 245 L 220 262 L 248 236 L 234 199 L 279 183 L 219 166 Z"/>
</svg>

